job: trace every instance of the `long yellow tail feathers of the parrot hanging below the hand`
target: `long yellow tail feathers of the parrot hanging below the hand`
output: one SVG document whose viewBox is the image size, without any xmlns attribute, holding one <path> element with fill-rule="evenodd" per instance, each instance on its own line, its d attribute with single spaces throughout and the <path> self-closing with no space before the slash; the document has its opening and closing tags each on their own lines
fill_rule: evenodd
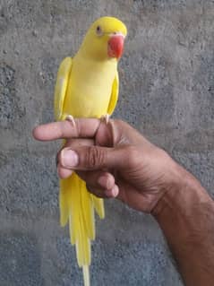
<svg viewBox="0 0 214 286">
<path fill-rule="evenodd" d="M 82 267 L 84 286 L 90 286 L 90 240 L 95 238 L 94 209 L 100 219 L 105 216 L 103 200 L 90 194 L 76 173 L 60 180 L 60 224 L 69 223 L 72 245 L 76 247 L 77 262 Z"/>
</svg>

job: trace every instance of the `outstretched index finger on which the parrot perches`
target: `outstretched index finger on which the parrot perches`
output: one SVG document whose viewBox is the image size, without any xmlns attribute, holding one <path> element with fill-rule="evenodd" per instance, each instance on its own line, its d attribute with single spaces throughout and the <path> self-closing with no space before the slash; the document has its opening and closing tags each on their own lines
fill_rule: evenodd
<svg viewBox="0 0 214 286">
<path fill-rule="evenodd" d="M 33 137 L 39 141 L 52 141 L 68 138 L 92 138 L 100 125 L 98 118 L 74 118 L 73 122 L 64 120 L 37 126 L 33 129 Z"/>
</svg>

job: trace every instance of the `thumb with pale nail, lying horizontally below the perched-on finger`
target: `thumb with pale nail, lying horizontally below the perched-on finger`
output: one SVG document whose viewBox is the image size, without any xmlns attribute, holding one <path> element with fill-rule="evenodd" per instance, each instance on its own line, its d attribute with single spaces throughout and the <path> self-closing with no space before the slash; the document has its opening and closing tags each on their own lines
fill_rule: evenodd
<svg viewBox="0 0 214 286">
<path fill-rule="evenodd" d="M 95 170 L 120 168 L 124 165 L 125 150 L 100 146 L 64 148 L 58 157 L 65 169 Z"/>
</svg>

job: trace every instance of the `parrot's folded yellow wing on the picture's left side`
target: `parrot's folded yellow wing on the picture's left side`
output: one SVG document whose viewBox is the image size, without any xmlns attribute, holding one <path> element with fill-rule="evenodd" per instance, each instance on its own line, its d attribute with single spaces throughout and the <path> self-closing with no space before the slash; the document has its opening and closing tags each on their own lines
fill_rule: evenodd
<svg viewBox="0 0 214 286">
<path fill-rule="evenodd" d="M 72 70 L 72 57 L 65 57 L 59 66 L 56 87 L 55 87 L 55 118 L 56 120 L 63 119 L 64 99 L 67 91 L 67 85 Z"/>
</svg>

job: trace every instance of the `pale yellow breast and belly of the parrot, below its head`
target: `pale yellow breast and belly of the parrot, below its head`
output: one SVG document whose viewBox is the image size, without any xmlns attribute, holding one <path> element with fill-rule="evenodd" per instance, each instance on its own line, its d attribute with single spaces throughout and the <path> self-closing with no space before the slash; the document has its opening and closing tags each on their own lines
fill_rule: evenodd
<svg viewBox="0 0 214 286">
<path fill-rule="evenodd" d="M 73 58 L 64 114 L 73 117 L 101 117 L 107 114 L 116 61 L 94 62 Z"/>
</svg>

